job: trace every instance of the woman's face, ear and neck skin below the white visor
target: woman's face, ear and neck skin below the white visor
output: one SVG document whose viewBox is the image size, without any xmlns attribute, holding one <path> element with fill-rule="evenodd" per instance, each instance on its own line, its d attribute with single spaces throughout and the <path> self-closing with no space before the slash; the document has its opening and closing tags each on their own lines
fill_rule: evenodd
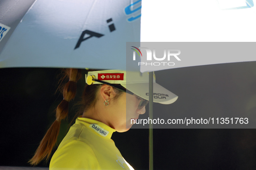
<svg viewBox="0 0 256 170">
<path fill-rule="evenodd" d="M 107 106 L 104 105 L 106 99 L 109 101 Z M 134 120 L 146 112 L 145 106 L 138 109 L 140 101 L 135 95 L 125 92 L 117 97 L 112 86 L 102 85 L 95 107 L 84 112 L 83 117 L 105 123 L 117 132 L 126 132 L 133 126 Z"/>
</svg>

